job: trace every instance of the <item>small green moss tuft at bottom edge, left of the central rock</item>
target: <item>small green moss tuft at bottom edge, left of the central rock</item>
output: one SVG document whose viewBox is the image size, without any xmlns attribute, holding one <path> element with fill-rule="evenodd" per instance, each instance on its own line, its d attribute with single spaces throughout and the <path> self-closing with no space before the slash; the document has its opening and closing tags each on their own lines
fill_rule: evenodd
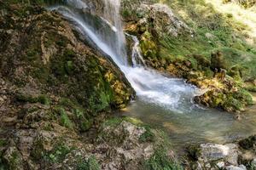
<svg viewBox="0 0 256 170">
<path fill-rule="evenodd" d="M 77 170 L 100 170 L 101 166 L 95 156 L 90 156 L 87 160 L 81 160 L 78 163 Z"/>
</svg>

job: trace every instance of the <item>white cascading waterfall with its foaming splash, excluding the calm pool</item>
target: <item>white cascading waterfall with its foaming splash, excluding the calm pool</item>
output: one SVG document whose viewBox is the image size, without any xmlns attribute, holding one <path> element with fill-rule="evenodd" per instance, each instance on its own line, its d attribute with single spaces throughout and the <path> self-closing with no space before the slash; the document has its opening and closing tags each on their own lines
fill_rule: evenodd
<svg viewBox="0 0 256 170">
<path fill-rule="evenodd" d="M 85 0 L 68 0 L 67 6 L 55 6 L 61 14 L 73 21 L 84 37 L 90 39 L 97 48 L 108 54 L 135 89 L 139 99 L 154 105 L 160 105 L 172 111 L 188 111 L 196 88 L 186 84 L 183 79 L 170 78 L 147 68 L 140 54 L 139 41 L 134 40 L 132 65 L 127 65 L 125 34 L 119 16 L 119 0 L 102 0 L 104 4 L 102 17 L 86 13 Z M 84 5 L 84 6 L 83 6 Z M 85 11 L 81 12 L 81 11 Z M 183 105 L 181 107 L 181 105 Z"/>
</svg>

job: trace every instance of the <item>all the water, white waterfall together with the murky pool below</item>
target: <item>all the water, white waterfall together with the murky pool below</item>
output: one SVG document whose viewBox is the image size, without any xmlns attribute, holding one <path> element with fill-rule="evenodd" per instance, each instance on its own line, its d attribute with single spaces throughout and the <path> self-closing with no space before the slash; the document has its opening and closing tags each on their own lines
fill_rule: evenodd
<svg viewBox="0 0 256 170">
<path fill-rule="evenodd" d="M 84 37 L 113 59 L 124 72 L 137 93 L 137 100 L 119 114 L 135 116 L 164 129 L 177 146 L 206 141 L 223 143 L 256 133 L 255 108 L 241 121 L 236 121 L 229 113 L 195 105 L 192 101 L 195 95 L 200 94 L 199 89 L 185 83 L 183 79 L 165 77 L 147 68 L 140 54 L 137 37 L 134 36 L 131 36 L 134 41 L 132 64 L 128 65 L 125 34 L 119 17 L 120 2 L 102 1 L 103 14 L 98 18 L 86 12 L 86 0 L 67 0 L 66 6 L 50 9 L 59 11 L 71 20 Z"/>
</svg>

